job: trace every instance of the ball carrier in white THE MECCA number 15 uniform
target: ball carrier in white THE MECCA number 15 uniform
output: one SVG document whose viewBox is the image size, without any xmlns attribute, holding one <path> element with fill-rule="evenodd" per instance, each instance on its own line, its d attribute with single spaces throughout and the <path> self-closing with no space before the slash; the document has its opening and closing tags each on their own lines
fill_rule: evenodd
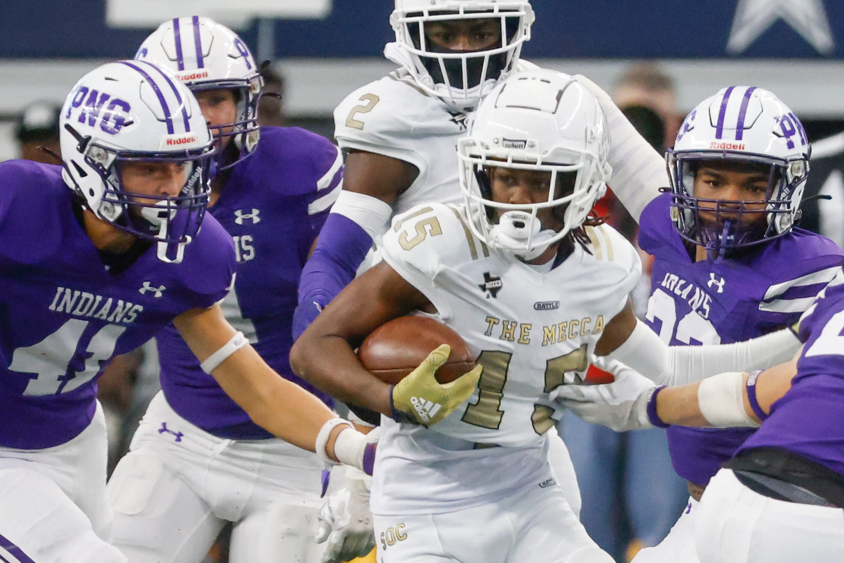
<svg viewBox="0 0 844 563">
<path fill-rule="evenodd" d="M 636 320 L 628 294 L 638 254 L 588 218 L 611 172 L 608 150 L 598 101 L 575 79 L 545 70 L 507 79 L 459 141 L 463 204 L 397 216 L 384 262 L 341 292 L 291 351 L 296 373 L 387 415 L 372 495 L 383 563 L 610 561 L 549 465 L 549 394 L 578 382 L 593 353 L 675 383 L 793 353 L 771 356 L 765 337 L 669 348 Z M 414 312 L 454 328 L 484 367 L 478 392 L 450 415 L 424 385 L 391 389 L 354 356 L 377 326 Z M 438 348 L 419 369 L 433 380 L 448 353 Z M 393 415 L 408 410 L 400 387 L 415 399 L 411 418 Z"/>
</svg>

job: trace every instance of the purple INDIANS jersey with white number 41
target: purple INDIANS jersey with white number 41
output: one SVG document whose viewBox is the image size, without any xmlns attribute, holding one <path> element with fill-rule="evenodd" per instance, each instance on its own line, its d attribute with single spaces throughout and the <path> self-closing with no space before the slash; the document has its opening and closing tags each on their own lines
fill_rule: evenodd
<svg viewBox="0 0 844 563">
<path fill-rule="evenodd" d="M 230 236 L 213 217 L 168 264 L 152 245 L 110 272 L 73 210 L 62 168 L 0 163 L 0 445 L 60 445 L 88 426 L 106 363 L 179 314 L 225 297 Z"/>
</svg>

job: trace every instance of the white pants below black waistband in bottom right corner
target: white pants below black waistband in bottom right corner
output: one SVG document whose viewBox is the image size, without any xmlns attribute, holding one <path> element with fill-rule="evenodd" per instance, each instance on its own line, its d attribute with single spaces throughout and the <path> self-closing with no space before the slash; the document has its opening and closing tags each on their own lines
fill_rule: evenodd
<svg viewBox="0 0 844 563">
<path fill-rule="evenodd" d="M 722 469 L 701 498 L 695 542 L 701 563 L 841 563 L 844 510 L 771 499 Z"/>
</svg>

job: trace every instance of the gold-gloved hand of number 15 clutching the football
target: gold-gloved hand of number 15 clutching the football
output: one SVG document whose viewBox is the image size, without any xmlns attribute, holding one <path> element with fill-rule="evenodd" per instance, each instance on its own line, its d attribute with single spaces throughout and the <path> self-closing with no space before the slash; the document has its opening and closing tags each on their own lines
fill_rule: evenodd
<svg viewBox="0 0 844 563">
<path fill-rule="evenodd" d="M 459 407 L 478 386 L 482 366 L 477 365 L 451 383 L 436 380 L 436 370 L 448 361 L 452 348 L 443 344 L 428 354 L 419 367 L 392 388 L 392 418 L 431 426 Z"/>
</svg>

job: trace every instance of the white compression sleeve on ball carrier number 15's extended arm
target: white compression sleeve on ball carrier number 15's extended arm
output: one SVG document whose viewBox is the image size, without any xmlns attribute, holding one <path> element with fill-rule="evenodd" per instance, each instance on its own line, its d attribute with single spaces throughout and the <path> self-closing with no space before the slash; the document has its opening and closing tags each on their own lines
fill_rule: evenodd
<svg viewBox="0 0 844 563">
<path fill-rule="evenodd" d="M 744 342 L 707 346 L 668 346 L 641 322 L 624 344 L 609 354 L 657 385 L 685 385 L 725 371 L 771 368 L 793 358 L 800 341 L 792 331 L 771 332 Z"/>
</svg>

